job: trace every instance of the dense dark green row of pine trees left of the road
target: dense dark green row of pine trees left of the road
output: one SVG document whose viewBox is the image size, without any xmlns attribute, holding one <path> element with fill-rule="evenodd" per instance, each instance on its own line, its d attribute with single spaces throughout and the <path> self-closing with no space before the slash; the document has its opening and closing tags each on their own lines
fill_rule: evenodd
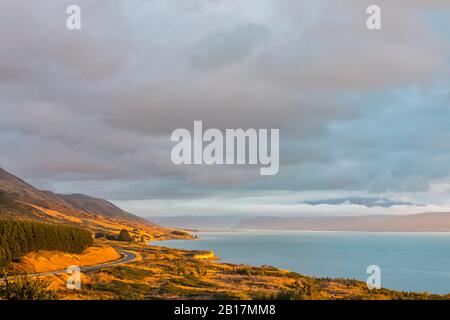
<svg viewBox="0 0 450 320">
<path fill-rule="evenodd" d="M 27 220 L 0 220 L 0 268 L 28 252 L 81 253 L 92 243 L 91 233 L 81 228 Z"/>
</svg>

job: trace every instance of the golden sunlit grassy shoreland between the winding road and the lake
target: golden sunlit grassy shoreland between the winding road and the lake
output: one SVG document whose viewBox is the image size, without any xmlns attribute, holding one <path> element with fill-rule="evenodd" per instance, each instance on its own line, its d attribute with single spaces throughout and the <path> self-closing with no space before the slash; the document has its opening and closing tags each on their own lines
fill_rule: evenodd
<svg viewBox="0 0 450 320">
<path fill-rule="evenodd" d="M 67 275 L 49 276 L 59 299 L 448 299 L 449 296 L 370 290 L 362 281 L 321 279 L 271 266 L 218 263 L 211 252 L 124 245 L 137 261 L 83 274 L 81 290 Z"/>
</svg>

